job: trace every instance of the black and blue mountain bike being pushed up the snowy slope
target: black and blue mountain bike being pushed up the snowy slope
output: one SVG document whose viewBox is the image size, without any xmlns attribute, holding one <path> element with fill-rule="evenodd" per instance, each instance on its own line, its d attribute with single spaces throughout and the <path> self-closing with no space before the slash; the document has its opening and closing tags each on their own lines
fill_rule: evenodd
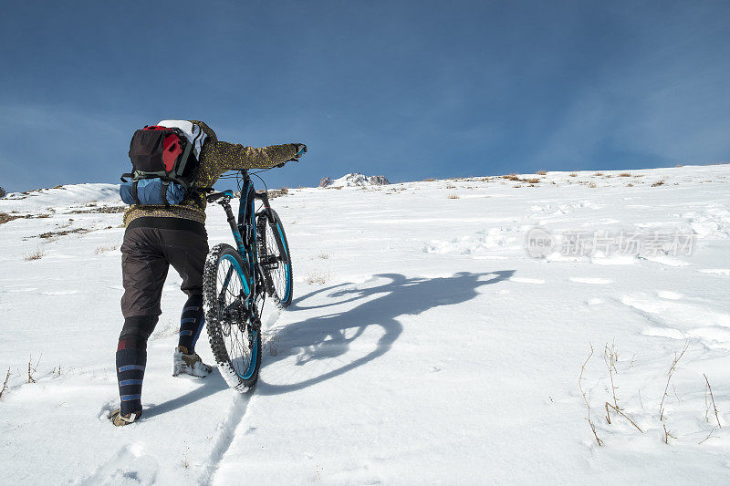
<svg viewBox="0 0 730 486">
<path fill-rule="evenodd" d="M 203 311 L 221 375 L 231 388 L 244 393 L 255 385 L 261 367 L 261 314 L 266 299 L 270 297 L 281 308 L 290 305 L 293 280 L 287 234 L 271 209 L 268 192 L 255 191 L 247 171 L 236 172 L 235 178 L 241 191 L 237 221 L 231 209 L 233 191 L 206 196 L 208 202 L 224 208 L 235 247 L 219 243 L 208 253 Z M 256 201 L 263 203 L 258 210 Z"/>
</svg>

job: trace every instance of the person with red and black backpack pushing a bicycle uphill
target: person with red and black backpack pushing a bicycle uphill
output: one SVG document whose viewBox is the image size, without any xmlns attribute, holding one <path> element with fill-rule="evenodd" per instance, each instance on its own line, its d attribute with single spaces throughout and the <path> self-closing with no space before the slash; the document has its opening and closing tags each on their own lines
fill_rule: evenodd
<svg viewBox="0 0 730 486">
<path fill-rule="evenodd" d="M 162 286 L 171 264 L 188 295 L 172 376 L 205 377 L 213 370 L 195 353 L 203 329 L 203 266 L 208 254 L 205 192 L 225 171 L 267 169 L 306 152 L 302 143 L 255 149 L 219 141 L 199 120 L 162 120 L 135 131 L 130 142 L 133 170 L 122 175 L 120 186 L 130 208 L 124 213 L 121 245 L 124 326 L 116 355 L 121 404 L 110 414 L 115 426 L 140 419 L 147 339 L 162 314 Z"/>
</svg>

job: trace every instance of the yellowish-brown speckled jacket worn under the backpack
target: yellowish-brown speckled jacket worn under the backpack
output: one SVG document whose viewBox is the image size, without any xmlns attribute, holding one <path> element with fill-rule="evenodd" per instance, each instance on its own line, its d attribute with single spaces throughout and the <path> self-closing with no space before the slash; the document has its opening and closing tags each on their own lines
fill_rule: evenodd
<svg viewBox="0 0 730 486">
<path fill-rule="evenodd" d="M 263 149 L 244 147 L 240 144 L 218 141 L 213 129 L 203 121 L 189 120 L 198 125 L 208 136 L 200 153 L 200 169 L 194 187 L 213 187 L 215 181 L 225 171 L 245 171 L 248 169 L 266 169 L 285 160 L 289 160 L 297 153 L 297 145 L 271 145 Z M 132 205 L 124 213 L 124 225 L 142 216 L 183 218 L 197 222 L 205 222 L 205 198 L 195 194 L 176 206 L 139 206 Z"/>
</svg>

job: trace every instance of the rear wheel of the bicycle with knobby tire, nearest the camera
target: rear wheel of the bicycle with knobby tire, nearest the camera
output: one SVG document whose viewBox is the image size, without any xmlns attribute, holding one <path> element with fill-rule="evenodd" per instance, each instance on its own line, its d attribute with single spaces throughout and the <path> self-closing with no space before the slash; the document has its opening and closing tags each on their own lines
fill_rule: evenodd
<svg viewBox="0 0 730 486">
<path fill-rule="evenodd" d="M 221 376 L 242 393 L 253 388 L 261 367 L 260 329 L 245 312 L 249 282 L 241 254 L 229 244 L 215 245 L 203 270 L 205 323 Z"/>
</svg>

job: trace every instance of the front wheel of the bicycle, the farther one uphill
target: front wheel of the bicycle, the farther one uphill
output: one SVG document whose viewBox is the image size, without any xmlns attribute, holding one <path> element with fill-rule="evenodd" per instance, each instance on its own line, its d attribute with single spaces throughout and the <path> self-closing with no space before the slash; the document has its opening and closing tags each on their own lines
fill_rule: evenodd
<svg viewBox="0 0 730 486">
<path fill-rule="evenodd" d="M 287 243 L 287 233 L 276 211 L 271 210 L 274 222 L 266 217 L 266 212 L 258 214 L 256 219 L 256 233 L 258 236 L 258 258 L 264 273 L 266 290 L 274 299 L 277 306 L 286 308 L 291 305 L 294 295 L 294 274 L 291 267 L 291 252 Z M 282 243 L 284 255 L 280 254 L 278 244 Z M 270 263 L 271 258 L 276 260 L 276 268 Z"/>
</svg>

